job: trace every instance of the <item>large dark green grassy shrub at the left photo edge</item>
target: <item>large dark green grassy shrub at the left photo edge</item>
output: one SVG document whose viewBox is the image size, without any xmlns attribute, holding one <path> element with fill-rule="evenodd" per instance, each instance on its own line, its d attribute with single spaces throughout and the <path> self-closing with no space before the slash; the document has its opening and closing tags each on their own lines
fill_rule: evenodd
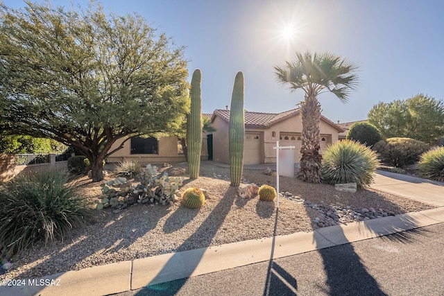
<svg viewBox="0 0 444 296">
<path fill-rule="evenodd" d="M 0 188 L 0 249 L 10 254 L 34 241 L 62 238 L 94 214 L 66 174 L 19 176 Z"/>
</svg>

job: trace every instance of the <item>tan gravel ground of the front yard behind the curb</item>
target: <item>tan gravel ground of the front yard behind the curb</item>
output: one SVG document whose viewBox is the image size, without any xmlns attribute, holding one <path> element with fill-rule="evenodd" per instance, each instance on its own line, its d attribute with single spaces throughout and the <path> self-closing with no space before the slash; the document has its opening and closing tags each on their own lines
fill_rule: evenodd
<svg viewBox="0 0 444 296">
<path fill-rule="evenodd" d="M 187 164 L 175 166 L 187 167 Z M 136 204 L 119 214 L 107 210 L 96 223 L 75 229 L 65 241 L 48 245 L 35 243 L 13 259 L 10 272 L 0 279 L 30 279 L 94 265 L 134 260 L 157 254 L 191 250 L 249 239 L 294 232 L 310 232 L 354 220 L 432 209 L 434 206 L 383 193 L 359 189 L 339 192 L 327 184 L 307 184 L 295 178 L 280 177 L 280 198 L 276 218 L 275 202 L 237 197 L 230 186 L 229 168 L 202 162 L 197 180 L 185 178 L 181 191 L 198 186 L 210 198 L 200 209 Z M 185 175 L 186 176 L 186 175 Z M 87 177 L 78 180 L 81 193 L 94 201 L 100 195 L 98 183 Z M 245 169 L 244 184 L 270 184 L 276 177 L 260 170 Z M 374 211 L 374 212 L 373 212 Z M 369 214 L 371 213 L 371 214 Z"/>
</svg>

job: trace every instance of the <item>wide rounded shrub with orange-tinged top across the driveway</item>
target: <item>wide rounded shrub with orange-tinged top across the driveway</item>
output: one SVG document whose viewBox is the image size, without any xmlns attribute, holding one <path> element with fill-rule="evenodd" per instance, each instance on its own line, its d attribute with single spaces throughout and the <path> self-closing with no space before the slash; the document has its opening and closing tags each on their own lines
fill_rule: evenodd
<svg viewBox="0 0 444 296">
<path fill-rule="evenodd" d="M 410 138 L 388 138 L 375 143 L 372 149 L 379 154 L 384 164 L 402 168 L 418 162 L 420 155 L 429 150 L 429 146 Z"/>
</svg>

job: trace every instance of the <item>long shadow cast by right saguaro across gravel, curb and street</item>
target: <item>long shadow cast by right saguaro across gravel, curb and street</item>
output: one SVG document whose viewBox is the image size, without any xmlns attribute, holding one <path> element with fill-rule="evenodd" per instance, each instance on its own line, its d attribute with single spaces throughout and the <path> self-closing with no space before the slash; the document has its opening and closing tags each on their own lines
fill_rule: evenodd
<svg viewBox="0 0 444 296">
<path fill-rule="evenodd" d="M 212 213 L 203 221 L 200 227 L 192 234 L 187 240 L 182 243 L 177 249 L 178 252 L 182 250 L 189 250 L 189 245 L 193 245 L 194 241 L 197 241 L 199 237 L 202 237 L 203 234 L 207 238 L 208 242 L 212 241 L 212 238 L 216 235 L 216 232 L 221 227 L 223 220 L 228 215 L 228 212 L 231 209 L 232 204 L 234 203 L 234 199 L 236 199 L 236 188 L 229 187 L 223 198 L 219 201 L 219 204 L 216 205 Z M 210 243 L 208 243 L 207 247 Z M 203 250 L 203 249 L 202 249 Z M 203 256 L 204 252 L 201 252 L 201 256 Z M 185 285 L 187 279 L 183 279 L 180 281 L 167 282 L 163 284 L 157 284 L 159 281 L 162 281 L 162 277 L 164 274 L 164 270 L 174 269 L 176 266 L 176 256 L 181 256 L 177 252 L 173 254 L 171 259 L 164 265 L 162 270 L 157 274 L 157 276 L 149 283 L 145 288 L 139 291 L 136 295 L 174 295 L 178 293 L 178 291 Z M 192 263 L 187 265 L 187 271 L 189 271 L 189 275 L 185 275 L 186 277 L 191 276 L 191 274 L 196 269 L 200 259 L 193 260 Z M 191 265 L 192 264 L 192 265 Z M 152 292 L 152 293 L 151 293 Z"/>
</svg>

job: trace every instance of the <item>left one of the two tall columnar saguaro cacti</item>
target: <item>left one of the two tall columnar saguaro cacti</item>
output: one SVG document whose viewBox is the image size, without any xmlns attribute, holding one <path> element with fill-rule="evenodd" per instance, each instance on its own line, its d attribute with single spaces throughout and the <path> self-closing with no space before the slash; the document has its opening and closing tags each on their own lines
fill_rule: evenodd
<svg viewBox="0 0 444 296">
<path fill-rule="evenodd" d="M 188 144 L 188 171 L 189 177 L 196 179 L 199 176 L 200 150 L 202 147 L 202 98 L 200 81 L 202 74 L 200 69 L 193 72 L 191 78 L 191 110 L 187 125 Z"/>
</svg>

